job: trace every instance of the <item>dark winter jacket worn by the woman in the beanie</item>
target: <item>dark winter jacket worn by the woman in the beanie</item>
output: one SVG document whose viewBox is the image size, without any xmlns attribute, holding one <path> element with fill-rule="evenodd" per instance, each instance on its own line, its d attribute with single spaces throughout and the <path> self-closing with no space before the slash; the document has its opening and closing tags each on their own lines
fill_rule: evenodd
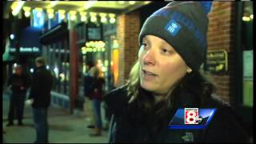
<svg viewBox="0 0 256 144">
<path fill-rule="evenodd" d="M 109 142 L 248 142 L 241 123 L 239 123 L 232 108 L 218 98 L 214 98 L 214 96 L 210 98 L 206 106 L 200 106 L 204 108 L 217 108 L 214 117 L 206 129 L 166 129 L 177 108 L 198 108 L 197 98 L 184 92 L 180 95 L 176 106 L 170 109 L 170 114 L 166 118 L 166 124 L 154 134 L 150 134 L 150 131 L 152 131 L 150 128 L 156 123 L 146 124 L 145 122 L 144 124 L 142 122 L 141 126 L 134 126 L 129 121 L 130 115 L 127 114 L 128 98 L 126 87 L 111 91 L 103 97 L 103 100 L 112 112 Z"/>
</svg>

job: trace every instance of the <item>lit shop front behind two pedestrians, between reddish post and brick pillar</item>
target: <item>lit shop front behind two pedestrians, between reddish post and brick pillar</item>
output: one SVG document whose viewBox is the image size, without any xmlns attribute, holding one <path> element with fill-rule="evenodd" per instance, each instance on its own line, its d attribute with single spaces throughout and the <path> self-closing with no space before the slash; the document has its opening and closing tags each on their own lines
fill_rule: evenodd
<svg viewBox="0 0 256 144">
<path fill-rule="evenodd" d="M 75 26 L 78 35 L 78 107 L 82 107 L 84 99 L 84 76 L 88 72 L 86 64 L 93 62 L 100 70 L 100 76 L 105 79 L 104 92 L 112 89 L 111 53 L 113 38 L 116 33 L 116 23 L 78 23 Z"/>
</svg>

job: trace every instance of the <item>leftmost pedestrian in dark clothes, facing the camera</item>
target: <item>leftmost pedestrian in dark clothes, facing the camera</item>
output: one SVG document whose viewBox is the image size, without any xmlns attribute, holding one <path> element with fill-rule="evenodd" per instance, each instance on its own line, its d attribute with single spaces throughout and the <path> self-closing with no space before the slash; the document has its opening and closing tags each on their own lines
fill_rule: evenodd
<svg viewBox="0 0 256 144">
<path fill-rule="evenodd" d="M 18 118 L 18 126 L 22 126 L 24 103 L 26 99 L 26 90 L 30 86 L 30 79 L 28 75 L 23 73 L 22 66 L 14 67 L 14 74 L 10 75 L 7 86 L 12 91 L 10 95 L 10 107 L 8 114 L 8 124 L 6 126 L 14 126 L 14 114 Z M 16 113 L 15 113 L 16 112 Z"/>
</svg>

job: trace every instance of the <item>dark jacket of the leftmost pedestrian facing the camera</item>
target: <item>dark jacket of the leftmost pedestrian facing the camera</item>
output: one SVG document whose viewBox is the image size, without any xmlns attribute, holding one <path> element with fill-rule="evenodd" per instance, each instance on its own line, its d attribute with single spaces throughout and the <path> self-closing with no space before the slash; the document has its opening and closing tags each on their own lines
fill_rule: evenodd
<svg viewBox="0 0 256 144">
<path fill-rule="evenodd" d="M 11 74 L 10 78 L 8 79 L 7 86 L 11 86 L 10 89 L 14 93 L 26 93 L 26 90 L 30 86 L 30 78 L 25 74 Z M 24 89 L 22 89 L 22 86 Z"/>
</svg>

